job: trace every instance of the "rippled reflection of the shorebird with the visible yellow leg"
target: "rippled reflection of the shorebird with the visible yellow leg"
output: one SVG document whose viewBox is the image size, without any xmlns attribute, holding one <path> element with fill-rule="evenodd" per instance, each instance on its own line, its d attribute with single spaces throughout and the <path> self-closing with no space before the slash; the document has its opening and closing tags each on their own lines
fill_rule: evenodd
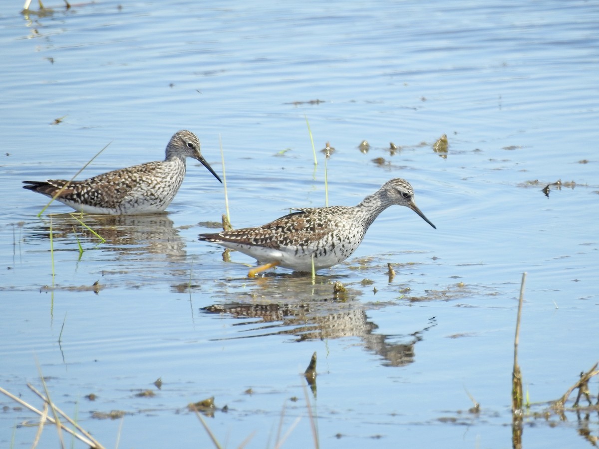
<svg viewBox="0 0 599 449">
<path fill-rule="evenodd" d="M 277 279 L 280 280 L 280 277 Z M 273 278 L 273 281 L 276 281 Z M 305 285 L 304 285 L 305 284 Z M 261 284 L 258 295 L 243 301 L 213 304 L 200 309 L 205 314 L 228 315 L 241 320 L 235 329 L 243 336 L 219 339 L 256 338 L 269 335 L 292 335 L 295 341 L 358 337 L 364 347 L 384 360 L 385 366 L 405 366 L 414 361 L 415 345 L 434 320 L 404 335 L 376 333 L 379 326 L 368 318 L 367 310 L 384 307 L 355 301 L 361 292 L 346 289 L 346 300 L 334 297 L 333 284 L 312 285 L 308 279 L 291 275 L 284 281 Z M 285 288 L 286 287 L 286 288 Z M 226 293 L 231 298 L 231 292 Z M 259 298 L 259 299 L 256 299 Z M 247 318 L 246 321 L 243 321 Z M 256 318 L 258 318 L 256 320 Z M 241 327 L 241 329 L 240 329 Z"/>
</svg>

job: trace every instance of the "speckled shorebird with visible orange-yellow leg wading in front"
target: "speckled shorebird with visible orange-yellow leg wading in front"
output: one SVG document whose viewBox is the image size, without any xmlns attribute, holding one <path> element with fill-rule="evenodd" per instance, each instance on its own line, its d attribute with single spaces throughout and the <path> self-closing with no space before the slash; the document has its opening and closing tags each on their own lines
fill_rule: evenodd
<svg viewBox="0 0 599 449">
<path fill-rule="evenodd" d="M 329 268 L 351 256 L 376 217 L 394 204 L 409 207 L 437 229 L 416 206 L 410 183 L 397 178 L 357 206 L 297 208 L 264 226 L 200 234 L 199 240 L 240 251 L 264 264 L 250 269 L 248 277 L 277 265 L 311 272 L 312 266 L 314 271 Z"/>
</svg>

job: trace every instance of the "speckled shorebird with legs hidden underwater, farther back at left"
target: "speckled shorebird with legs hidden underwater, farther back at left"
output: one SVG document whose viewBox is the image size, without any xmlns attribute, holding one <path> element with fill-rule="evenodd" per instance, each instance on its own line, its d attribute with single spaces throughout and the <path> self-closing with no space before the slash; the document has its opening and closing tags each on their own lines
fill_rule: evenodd
<svg viewBox="0 0 599 449">
<path fill-rule="evenodd" d="M 90 214 L 152 214 L 164 211 L 173 201 L 183 183 L 186 157 L 199 160 L 220 181 L 200 153 L 198 137 L 183 130 L 171 137 L 164 160 L 109 171 L 83 181 L 23 181 L 28 184 L 23 189 Z"/>
</svg>

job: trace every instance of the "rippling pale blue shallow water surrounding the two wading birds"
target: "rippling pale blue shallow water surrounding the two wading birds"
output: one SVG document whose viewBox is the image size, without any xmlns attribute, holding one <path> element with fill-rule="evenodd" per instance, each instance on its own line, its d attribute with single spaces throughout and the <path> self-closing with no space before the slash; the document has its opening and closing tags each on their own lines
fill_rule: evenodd
<svg viewBox="0 0 599 449">
<path fill-rule="evenodd" d="M 273 447 L 282 419 L 285 447 L 310 447 L 305 393 L 321 447 L 510 447 L 524 271 L 530 400 L 559 398 L 597 361 L 597 5 L 53 6 L 0 15 L 0 386 L 41 408 L 26 387 L 40 387 L 39 363 L 56 404 L 106 447 L 209 447 L 187 404 L 210 396 L 223 444 L 254 432 L 248 447 Z M 326 162 L 329 204 L 404 177 L 437 230 L 392 207 L 314 285 L 285 269 L 248 280 L 253 260 L 197 241 L 225 212 L 199 163 L 168 214 L 87 217 L 104 243 L 63 205 L 37 219 L 46 198 L 20 187 L 70 177 L 107 144 L 81 176 L 160 159 L 179 129 L 219 173 L 222 142 L 235 227 L 324 205 Z M 547 198 L 558 180 L 575 184 Z M 301 376 L 314 351 L 316 393 Z M 29 447 L 35 427 L 14 426 L 35 415 L 0 403 L 0 444 Z M 127 414 L 92 418 L 111 410 Z M 598 436 L 596 414 L 566 417 L 528 416 L 523 446 Z"/>
</svg>

